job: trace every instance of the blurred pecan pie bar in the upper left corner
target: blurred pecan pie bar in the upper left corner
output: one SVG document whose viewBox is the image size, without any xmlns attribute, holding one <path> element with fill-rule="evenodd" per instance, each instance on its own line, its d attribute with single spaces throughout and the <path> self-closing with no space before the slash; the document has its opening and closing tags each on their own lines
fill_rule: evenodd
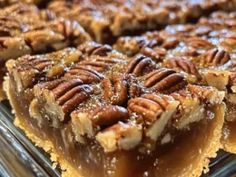
<svg viewBox="0 0 236 177">
<path fill-rule="evenodd" d="M 0 83 L 5 61 L 10 58 L 50 52 L 89 39 L 78 22 L 56 18 L 49 10 L 23 3 L 5 7 L 0 11 Z"/>
</svg>

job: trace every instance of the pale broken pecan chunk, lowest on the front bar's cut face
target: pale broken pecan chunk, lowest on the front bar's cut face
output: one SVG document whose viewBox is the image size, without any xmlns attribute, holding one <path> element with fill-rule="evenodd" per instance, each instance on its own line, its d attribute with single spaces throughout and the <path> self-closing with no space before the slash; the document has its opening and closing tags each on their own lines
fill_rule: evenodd
<svg viewBox="0 0 236 177">
<path fill-rule="evenodd" d="M 96 135 L 96 140 L 105 152 L 114 152 L 117 149 L 130 150 L 142 140 L 142 127 L 132 123 L 119 122 Z"/>
</svg>

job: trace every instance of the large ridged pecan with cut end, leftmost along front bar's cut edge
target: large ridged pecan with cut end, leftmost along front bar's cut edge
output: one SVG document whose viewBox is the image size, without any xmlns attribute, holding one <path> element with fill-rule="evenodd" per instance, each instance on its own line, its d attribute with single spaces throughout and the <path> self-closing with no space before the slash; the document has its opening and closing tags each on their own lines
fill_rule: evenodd
<svg viewBox="0 0 236 177">
<path fill-rule="evenodd" d="M 53 120 L 67 121 L 70 113 L 86 101 L 93 89 L 78 78 L 58 79 L 34 87 L 36 99 L 41 103 L 40 111 Z M 57 126 L 57 125 L 53 125 Z"/>
</svg>

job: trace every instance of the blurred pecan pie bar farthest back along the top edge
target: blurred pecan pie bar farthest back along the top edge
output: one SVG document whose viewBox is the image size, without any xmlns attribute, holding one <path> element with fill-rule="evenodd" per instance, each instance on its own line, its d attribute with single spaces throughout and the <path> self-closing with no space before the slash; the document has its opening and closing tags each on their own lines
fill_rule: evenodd
<svg viewBox="0 0 236 177">
<path fill-rule="evenodd" d="M 63 17 L 77 20 L 97 41 L 113 42 L 125 33 L 157 29 L 173 23 L 198 19 L 215 9 L 233 10 L 234 0 L 80 0 L 53 1 L 48 8 Z"/>
</svg>

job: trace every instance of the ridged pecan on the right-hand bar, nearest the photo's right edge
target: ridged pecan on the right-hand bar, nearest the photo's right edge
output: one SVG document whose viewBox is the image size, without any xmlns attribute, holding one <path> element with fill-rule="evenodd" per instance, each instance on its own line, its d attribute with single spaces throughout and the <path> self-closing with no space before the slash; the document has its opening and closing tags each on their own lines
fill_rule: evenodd
<svg viewBox="0 0 236 177">
<path fill-rule="evenodd" d="M 212 49 L 204 55 L 204 61 L 207 64 L 223 65 L 230 60 L 230 55 L 223 49 Z"/>
</svg>

